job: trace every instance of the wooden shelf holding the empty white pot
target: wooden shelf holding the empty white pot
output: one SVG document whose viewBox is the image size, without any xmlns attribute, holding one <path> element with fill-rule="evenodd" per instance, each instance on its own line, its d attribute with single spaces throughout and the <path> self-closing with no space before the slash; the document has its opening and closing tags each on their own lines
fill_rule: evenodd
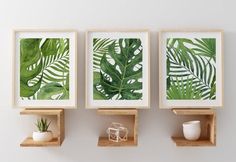
<svg viewBox="0 0 236 162">
<path fill-rule="evenodd" d="M 213 109 L 172 109 L 176 115 L 204 116 L 202 132 L 206 137 L 197 141 L 186 140 L 184 137 L 171 137 L 176 146 L 215 146 L 216 145 L 216 114 Z"/>
</svg>

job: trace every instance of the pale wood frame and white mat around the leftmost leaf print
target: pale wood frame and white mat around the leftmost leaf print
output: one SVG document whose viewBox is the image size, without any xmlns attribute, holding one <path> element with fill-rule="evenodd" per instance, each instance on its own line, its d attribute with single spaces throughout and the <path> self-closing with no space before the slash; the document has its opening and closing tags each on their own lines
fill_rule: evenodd
<svg viewBox="0 0 236 162">
<path fill-rule="evenodd" d="M 69 38 L 69 100 L 22 100 L 20 97 L 20 39 L 22 38 Z M 15 90 L 14 98 L 17 107 L 30 108 L 76 108 L 76 33 L 75 32 L 15 32 Z"/>
</svg>

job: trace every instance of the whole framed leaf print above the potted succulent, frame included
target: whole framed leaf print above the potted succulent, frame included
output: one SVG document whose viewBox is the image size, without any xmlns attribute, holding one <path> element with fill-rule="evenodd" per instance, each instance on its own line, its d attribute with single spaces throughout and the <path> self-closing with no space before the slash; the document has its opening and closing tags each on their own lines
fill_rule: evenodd
<svg viewBox="0 0 236 162">
<path fill-rule="evenodd" d="M 14 104 L 76 108 L 77 33 L 14 31 Z"/>
</svg>

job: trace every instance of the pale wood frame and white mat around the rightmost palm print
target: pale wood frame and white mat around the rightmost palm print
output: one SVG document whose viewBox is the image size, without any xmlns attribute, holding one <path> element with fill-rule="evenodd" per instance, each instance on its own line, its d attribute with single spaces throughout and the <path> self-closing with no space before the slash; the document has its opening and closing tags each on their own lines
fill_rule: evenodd
<svg viewBox="0 0 236 162">
<path fill-rule="evenodd" d="M 216 38 L 216 100 L 167 100 L 166 98 L 166 40 L 168 38 Z M 160 37 L 160 108 L 220 107 L 222 106 L 222 34 L 221 32 L 162 32 Z"/>
</svg>

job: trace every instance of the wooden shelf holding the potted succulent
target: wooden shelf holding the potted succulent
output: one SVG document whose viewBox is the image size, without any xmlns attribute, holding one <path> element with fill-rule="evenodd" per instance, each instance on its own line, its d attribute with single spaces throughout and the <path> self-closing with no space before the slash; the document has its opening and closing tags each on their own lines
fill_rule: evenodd
<svg viewBox="0 0 236 162">
<path fill-rule="evenodd" d="M 21 144 L 21 147 L 47 147 L 61 146 L 65 138 L 64 109 L 25 109 L 20 112 L 21 115 L 42 115 L 56 116 L 57 127 L 59 129 L 58 137 L 54 137 L 50 142 L 36 142 L 32 137 L 27 137 Z"/>
</svg>

